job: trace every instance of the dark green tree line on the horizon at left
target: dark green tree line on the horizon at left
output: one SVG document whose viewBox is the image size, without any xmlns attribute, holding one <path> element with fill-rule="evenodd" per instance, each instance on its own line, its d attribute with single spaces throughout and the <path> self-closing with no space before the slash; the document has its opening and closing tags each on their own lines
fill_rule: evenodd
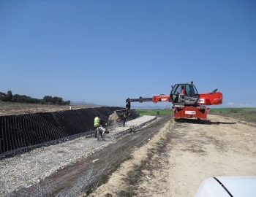
<svg viewBox="0 0 256 197">
<path fill-rule="evenodd" d="M 19 94 L 12 95 L 11 90 L 9 90 L 7 93 L 0 92 L 0 100 L 16 102 L 16 103 L 26 103 L 26 104 L 59 104 L 59 105 L 70 104 L 70 101 L 63 101 L 61 97 L 57 97 L 57 96 L 44 96 L 43 99 L 34 99 L 26 95 L 19 95 Z"/>
</svg>

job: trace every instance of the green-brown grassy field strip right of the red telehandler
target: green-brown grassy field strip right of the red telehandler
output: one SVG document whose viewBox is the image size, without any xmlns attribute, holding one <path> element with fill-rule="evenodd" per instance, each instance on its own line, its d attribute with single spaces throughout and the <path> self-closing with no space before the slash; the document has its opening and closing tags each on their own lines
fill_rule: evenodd
<svg viewBox="0 0 256 197">
<path fill-rule="evenodd" d="M 256 108 L 211 108 L 208 114 L 256 121 Z"/>
</svg>

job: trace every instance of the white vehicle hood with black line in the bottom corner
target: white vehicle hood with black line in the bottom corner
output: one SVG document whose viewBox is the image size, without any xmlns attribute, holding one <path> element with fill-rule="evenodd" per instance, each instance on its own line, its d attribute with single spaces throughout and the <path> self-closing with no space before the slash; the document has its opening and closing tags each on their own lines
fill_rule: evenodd
<svg viewBox="0 0 256 197">
<path fill-rule="evenodd" d="M 205 179 L 195 197 L 255 197 L 256 177 L 211 177 Z"/>
</svg>

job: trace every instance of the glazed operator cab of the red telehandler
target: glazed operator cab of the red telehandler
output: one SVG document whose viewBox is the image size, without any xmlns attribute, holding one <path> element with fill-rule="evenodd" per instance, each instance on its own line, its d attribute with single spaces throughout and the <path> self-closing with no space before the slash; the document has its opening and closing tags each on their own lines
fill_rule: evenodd
<svg viewBox="0 0 256 197">
<path fill-rule="evenodd" d="M 182 93 L 182 89 L 184 89 L 184 93 Z M 199 95 L 193 84 L 176 84 L 170 91 L 170 101 L 175 105 L 196 106 L 198 99 Z"/>
</svg>

